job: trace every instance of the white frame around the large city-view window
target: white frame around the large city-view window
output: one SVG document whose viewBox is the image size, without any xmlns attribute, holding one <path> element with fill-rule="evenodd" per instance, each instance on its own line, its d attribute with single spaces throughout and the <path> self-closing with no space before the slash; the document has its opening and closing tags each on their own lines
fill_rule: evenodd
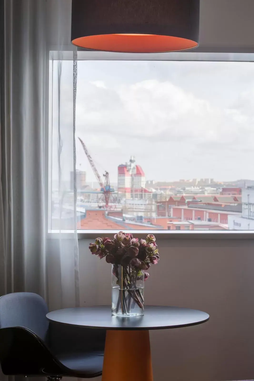
<svg viewBox="0 0 254 381">
<path fill-rule="evenodd" d="M 235 50 L 237 51 L 237 50 Z M 132 53 L 109 53 L 109 52 L 99 52 L 99 51 L 85 51 L 78 49 L 78 61 L 80 60 L 99 60 L 99 61 L 214 61 L 214 62 L 254 62 L 254 52 L 253 50 L 249 53 L 246 52 L 236 52 L 232 53 L 230 50 L 228 52 L 226 49 L 219 51 L 219 49 L 198 49 L 197 51 L 189 52 L 172 52 L 172 53 L 142 53 L 142 54 L 132 54 Z M 50 122 L 52 117 L 52 104 L 50 99 L 50 88 L 52 79 L 50 74 L 50 66 L 53 64 L 54 60 L 73 60 L 73 46 L 66 45 L 61 47 L 59 51 L 58 46 L 51 46 L 48 49 L 48 63 L 46 68 L 46 115 L 45 115 L 45 139 L 46 139 L 46 155 L 45 155 L 45 184 L 46 184 L 46 210 L 48 215 L 46 216 L 47 226 L 47 236 L 51 239 L 61 238 L 71 239 L 76 235 L 76 232 L 69 230 L 50 230 L 49 219 L 51 215 L 51 203 L 49 199 L 50 189 L 51 189 L 51 155 L 52 148 L 50 152 L 50 144 L 52 144 L 52 131 L 50 130 Z M 52 99 L 51 99 L 52 101 Z M 51 146 L 52 147 L 52 146 Z M 113 230 L 78 230 L 78 239 L 95 239 L 98 236 L 108 236 L 113 237 L 118 231 Z M 127 231 L 126 231 L 127 232 Z M 136 237 L 142 238 L 146 234 L 156 234 L 158 239 L 254 239 L 254 231 L 248 230 L 130 230 L 128 231 L 135 234 Z"/>
</svg>

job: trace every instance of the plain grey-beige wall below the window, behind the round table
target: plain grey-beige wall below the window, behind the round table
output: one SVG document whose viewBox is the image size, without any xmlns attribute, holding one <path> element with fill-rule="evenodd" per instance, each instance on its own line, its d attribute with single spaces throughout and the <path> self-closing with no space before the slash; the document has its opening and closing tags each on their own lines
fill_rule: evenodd
<svg viewBox="0 0 254 381">
<path fill-rule="evenodd" d="M 80 240 L 81 306 L 110 304 L 110 265 Z M 221 381 L 254 375 L 253 240 L 161 240 L 147 304 L 210 314 L 196 327 L 150 333 L 154 380 Z"/>
</svg>

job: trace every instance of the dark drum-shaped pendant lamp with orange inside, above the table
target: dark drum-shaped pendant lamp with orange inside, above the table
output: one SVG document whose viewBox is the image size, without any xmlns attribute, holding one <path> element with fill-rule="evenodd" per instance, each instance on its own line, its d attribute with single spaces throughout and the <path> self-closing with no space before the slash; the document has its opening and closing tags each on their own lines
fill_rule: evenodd
<svg viewBox="0 0 254 381">
<path fill-rule="evenodd" d="M 200 0 L 72 0 L 72 43 L 122 53 L 198 46 Z"/>
</svg>

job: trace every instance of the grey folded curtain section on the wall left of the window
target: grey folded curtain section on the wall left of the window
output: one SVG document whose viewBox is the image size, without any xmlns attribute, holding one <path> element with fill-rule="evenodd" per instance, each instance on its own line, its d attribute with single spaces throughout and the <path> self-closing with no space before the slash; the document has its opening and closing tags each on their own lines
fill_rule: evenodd
<svg viewBox="0 0 254 381">
<path fill-rule="evenodd" d="M 0 295 L 47 296 L 45 4 L 1 1 Z"/>
</svg>

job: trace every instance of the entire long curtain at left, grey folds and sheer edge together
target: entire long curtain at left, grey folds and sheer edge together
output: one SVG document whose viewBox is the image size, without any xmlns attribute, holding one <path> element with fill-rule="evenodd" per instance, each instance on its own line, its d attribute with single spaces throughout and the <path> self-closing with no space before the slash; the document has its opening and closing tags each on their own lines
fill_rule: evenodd
<svg viewBox="0 0 254 381">
<path fill-rule="evenodd" d="M 75 51 L 70 70 L 62 70 L 62 50 L 68 44 L 72 49 L 71 0 L 0 4 L 0 295 L 30 291 L 50 301 L 51 309 L 78 306 Z M 59 52 L 57 60 L 51 49 Z M 59 227 L 53 239 L 51 175 Z M 62 230 L 66 194 L 69 240 Z"/>
</svg>

